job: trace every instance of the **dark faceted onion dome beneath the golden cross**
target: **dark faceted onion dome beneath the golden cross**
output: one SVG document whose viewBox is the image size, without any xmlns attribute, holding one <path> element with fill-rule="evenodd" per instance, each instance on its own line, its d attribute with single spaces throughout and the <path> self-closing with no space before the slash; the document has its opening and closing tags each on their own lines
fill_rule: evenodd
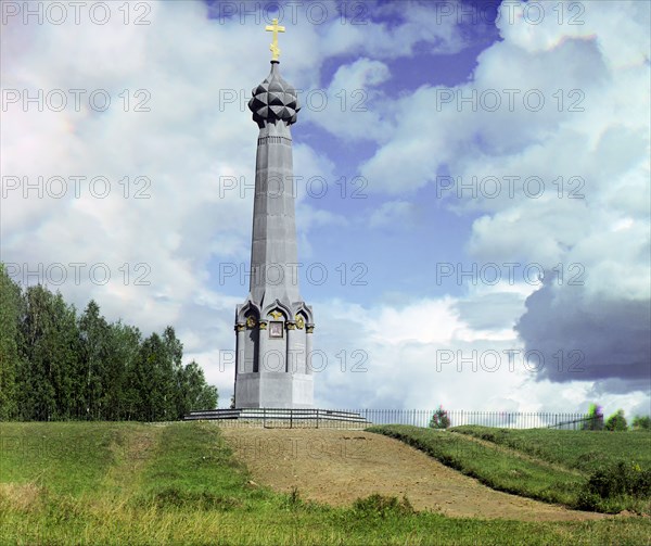
<svg viewBox="0 0 651 546">
<path fill-rule="evenodd" d="M 248 110 L 253 112 L 253 120 L 259 127 L 265 122 L 296 123 L 296 114 L 301 110 L 296 90 L 282 79 L 278 63 L 271 62 L 271 72 L 259 86 L 252 91 Z"/>
</svg>

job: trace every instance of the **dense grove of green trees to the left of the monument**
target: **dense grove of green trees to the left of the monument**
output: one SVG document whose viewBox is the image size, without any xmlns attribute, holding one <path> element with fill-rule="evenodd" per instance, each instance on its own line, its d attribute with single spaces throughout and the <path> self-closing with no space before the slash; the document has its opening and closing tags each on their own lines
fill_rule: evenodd
<svg viewBox="0 0 651 546">
<path fill-rule="evenodd" d="M 0 420 L 174 420 L 218 393 L 168 326 L 142 340 L 90 301 L 77 317 L 61 293 L 22 290 L 0 263 Z"/>
</svg>

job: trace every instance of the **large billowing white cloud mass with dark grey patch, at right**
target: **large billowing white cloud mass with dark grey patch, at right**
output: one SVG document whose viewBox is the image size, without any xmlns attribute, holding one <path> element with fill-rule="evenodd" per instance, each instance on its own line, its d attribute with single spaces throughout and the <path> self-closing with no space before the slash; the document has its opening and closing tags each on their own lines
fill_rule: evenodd
<svg viewBox="0 0 651 546">
<path fill-rule="evenodd" d="M 480 55 L 471 81 L 399 101 L 394 137 L 361 173 L 371 190 L 404 194 L 447 166 L 458 179 L 446 193 L 450 206 L 484 213 L 468 241 L 471 256 L 564 274 L 527 300 L 525 346 L 583 351 L 585 379 L 621 376 L 629 389 L 648 390 L 649 11 L 635 2 L 580 5 L 583 25 L 502 17 L 503 41 Z M 482 93 L 503 106 L 506 89 L 519 90 L 513 111 L 482 109 Z M 539 112 L 523 104 L 527 91 L 545 99 Z M 473 92 L 477 107 L 463 102 Z M 531 177 L 544 183 L 539 195 L 536 185 L 523 186 Z"/>
</svg>

